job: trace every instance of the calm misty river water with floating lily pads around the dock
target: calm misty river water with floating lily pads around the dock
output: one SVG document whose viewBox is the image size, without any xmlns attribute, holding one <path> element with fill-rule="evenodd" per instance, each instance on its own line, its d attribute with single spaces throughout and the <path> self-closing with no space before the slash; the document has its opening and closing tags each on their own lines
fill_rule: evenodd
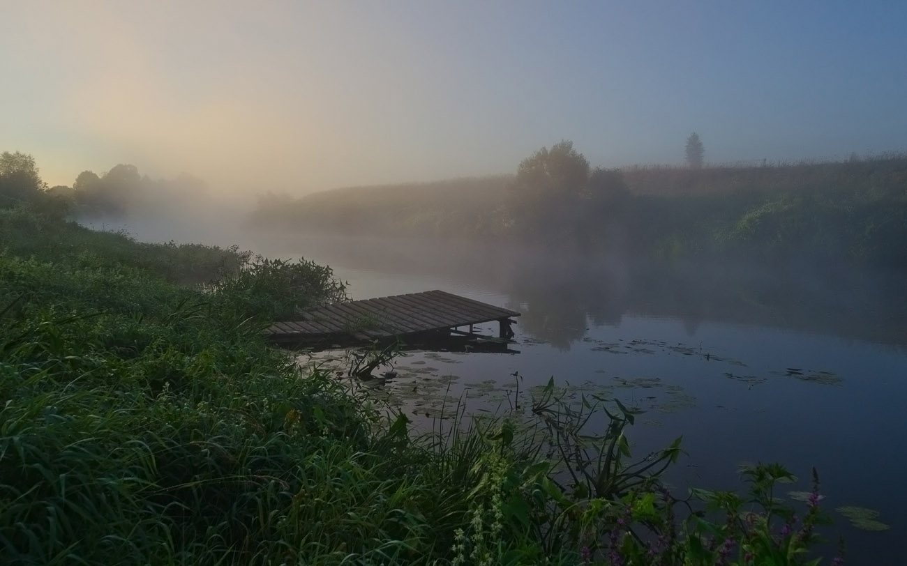
<svg viewBox="0 0 907 566">
<path fill-rule="evenodd" d="M 762 461 L 785 464 L 803 478 L 790 489 L 808 491 L 815 466 L 826 510 L 871 508 L 891 527 L 859 531 L 832 511 L 836 526 L 825 532 L 844 534 L 848 562 L 900 561 L 907 335 L 900 293 L 880 295 L 899 284 L 801 281 L 790 289 L 785 277 L 797 273 L 781 283 L 748 273 L 741 283 L 727 270 L 700 284 L 701 270 L 672 281 L 589 262 L 579 273 L 557 261 L 502 269 L 500 258 L 490 265 L 453 251 L 439 261 L 366 248 L 297 249 L 331 265 L 354 299 L 442 289 L 523 312 L 517 354 L 414 352 L 396 360 L 400 376 L 386 387 L 407 410 L 434 416 L 445 393 L 448 402 L 473 399 L 476 411 L 506 407 L 512 373 L 523 391 L 553 376 L 644 409 L 629 431 L 634 456 L 682 435 L 687 456 L 668 478 L 680 489 L 737 488 L 736 466 Z M 496 334 L 496 323 L 483 330 Z"/>
</svg>

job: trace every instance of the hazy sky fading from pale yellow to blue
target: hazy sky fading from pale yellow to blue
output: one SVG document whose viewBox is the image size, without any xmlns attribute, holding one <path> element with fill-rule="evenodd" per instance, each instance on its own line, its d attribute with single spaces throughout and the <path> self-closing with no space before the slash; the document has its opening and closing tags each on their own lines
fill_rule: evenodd
<svg viewBox="0 0 907 566">
<path fill-rule="evenodd" d="M 907 2 L 0 0 L 0 150 L 223 195 L 907 149 Z"/>
</svg>

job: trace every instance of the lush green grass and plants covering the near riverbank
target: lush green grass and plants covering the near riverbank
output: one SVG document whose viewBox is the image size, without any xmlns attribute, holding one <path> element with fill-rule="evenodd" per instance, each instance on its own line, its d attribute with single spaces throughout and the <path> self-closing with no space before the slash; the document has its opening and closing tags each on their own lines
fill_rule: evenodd
<svg viewBox="0 0 907 566">
<path fill-rule="evenodd" d="M 679 439 L 634 460 L 636 411 L 553 380 L 528 422 L 413 436 L 263 340 L 343 299 L 329 269 L 142 245 L 44 216 L 45 197 L 0 208 L 5 564 L 814 563 L 817 480 L 802 520 L 775 465 L 746 472 L 748 498 L 679 500 L 659 480 Z"/>
</svg>

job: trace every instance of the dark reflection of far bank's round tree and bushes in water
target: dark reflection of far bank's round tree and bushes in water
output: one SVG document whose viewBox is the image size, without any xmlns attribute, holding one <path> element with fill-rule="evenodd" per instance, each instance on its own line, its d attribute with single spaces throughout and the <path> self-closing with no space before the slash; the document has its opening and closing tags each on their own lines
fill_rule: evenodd
<svg viewBox="0 0 907 566">
<path fill-rule="evenodd" d="M 907 302 L 898 278 L 881 273 L 816 274 L 799 267 L 744 264 L 538 265 L 503 288 L 522 306 L 527 331 L 568 349 L 588 326 L 625 315 L 683 321 L 688 336 L 704 321 L 767 326 L 904 345 Z M 588 319 L 588 320 L 587 320 Z"/>
</svg>

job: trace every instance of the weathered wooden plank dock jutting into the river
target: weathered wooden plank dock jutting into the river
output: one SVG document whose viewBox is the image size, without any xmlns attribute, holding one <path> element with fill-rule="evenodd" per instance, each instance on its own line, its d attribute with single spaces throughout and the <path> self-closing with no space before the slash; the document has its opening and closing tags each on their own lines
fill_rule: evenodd
<svg viewBox="0 0 907 566">
<path fill-rule="evenodd" d="M 336 302 L 301 312 L 295 321 L 276 322 L 266 334 L 271 341 L 375 341 L 426 335 L 458 335 L 487 339 L 473 332 L 474 324 L 498 321 L 498 340 L 513 337 L 511 324 L 519 312 L 473 301 L 444 291 L 426 291 Z M 457 330 L 469 327 L 469 331 Z"/>
</svg>

